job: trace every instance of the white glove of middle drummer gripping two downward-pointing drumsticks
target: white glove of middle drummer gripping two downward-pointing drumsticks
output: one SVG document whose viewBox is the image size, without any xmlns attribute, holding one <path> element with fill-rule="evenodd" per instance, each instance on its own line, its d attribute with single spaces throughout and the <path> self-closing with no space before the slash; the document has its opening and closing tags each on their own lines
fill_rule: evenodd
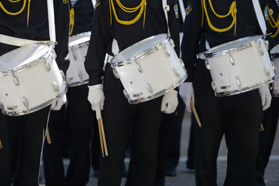
<svg viewBox="0 0 279 186">
<path fill-rule="evenodd" d="M 88 86 L 88 101 L 91 103 L 91 108 L 93 111 L 96 111 L 97 120 L 101 118 L 101 110 L 104 109 L 104 92 L 103 85 L 93 85 Z"/>
</svg>

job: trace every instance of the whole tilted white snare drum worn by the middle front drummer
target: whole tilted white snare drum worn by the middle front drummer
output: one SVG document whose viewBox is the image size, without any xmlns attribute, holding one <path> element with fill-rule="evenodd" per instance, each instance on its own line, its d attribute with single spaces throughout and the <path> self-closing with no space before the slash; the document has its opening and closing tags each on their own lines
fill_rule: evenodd
<svg viewBox="0 0 279 186">
<path fill-rule="evenodd" d="M 126 48 L 111 66 L 120 78 L 129 103 L 159 97 L 185 81 L 184 63 L 177 57 L 174 42 L 167 34 L 151 36 Z"/>
</svg>

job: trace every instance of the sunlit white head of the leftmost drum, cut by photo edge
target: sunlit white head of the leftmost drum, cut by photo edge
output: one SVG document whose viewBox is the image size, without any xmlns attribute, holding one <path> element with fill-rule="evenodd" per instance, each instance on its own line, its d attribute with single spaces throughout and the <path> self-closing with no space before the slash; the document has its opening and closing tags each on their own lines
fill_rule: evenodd
<svg viewBox="0 0 279 186">
<path fill-rule="evenodd" d="M 0 72 L 9 71 L 26 65 L 49 51 L 50 45 L 46 43 L 32 44 L 12 50 L 0 56 Z"/>
</svg>

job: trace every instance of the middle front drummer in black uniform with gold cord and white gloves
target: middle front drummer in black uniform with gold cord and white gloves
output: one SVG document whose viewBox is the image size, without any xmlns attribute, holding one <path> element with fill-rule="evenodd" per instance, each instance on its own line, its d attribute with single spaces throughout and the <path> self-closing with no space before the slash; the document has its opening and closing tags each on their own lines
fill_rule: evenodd
<svg viewBox="0 0 279 186">
<path fill-rule="evenodd" d="M 167 4 L 170 8 L 169 28 L 175 42 L 175 51 L 178 53 L 179 28 L 174 9 L 177 1 L 169 0 Z M 128 9 L 126 7 L 138 7 L 141 10 L 128 13 L 128 10 L 126 12 L 122 10 Z M 135 17 L 138 21 L 130 21 Z M 129 20 L 128 25 L 121 24 L 120 20 Z M 101 157 L 100 160 L 98 185 L 120 185 L 125 147 L 132 121 L 132 159 L 126 185 L 153 185 L 162 111 L 174 112 L 177 106 L 177 92 L 172 90 L 156 99 L 129 104 L 123 94 L 124 87 L 114 76 L 110 64 L 106 64 L 104 71 L 103 64 L 106 53 L 113 55 L 111 50 L 113 38 L 118 42 L 119 51 L 122 51 L 140 40 L 167 33 L 162 1 L 97 1 L 92 30 L 94 34 L 91 34 L 85 60 L 85 68 L 89 74 L 88 100 L 92 109 L 96 110 L 97 119 L 100 119 L 101 110 L 104 109 L 104 131 L 108 147 L 108 156 Z M 102 75 L 104 75 L 104 89 L 101 84 Z M 162 104 L 162 100 L 166 99 L 167 107 L 165 101 Z"/>
</svg>

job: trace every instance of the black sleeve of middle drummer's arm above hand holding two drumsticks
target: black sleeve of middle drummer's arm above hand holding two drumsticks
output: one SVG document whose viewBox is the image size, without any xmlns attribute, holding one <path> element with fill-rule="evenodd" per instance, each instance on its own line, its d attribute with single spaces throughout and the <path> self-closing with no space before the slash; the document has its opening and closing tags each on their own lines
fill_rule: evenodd
<svg viewBox="0 0 279 186">
<path fill-rule="evenodd" d="M 84 62 L 85 70 L 89 74 L 89 86 L 100 84 L 101 77 L 104 75 L 106 46 L 111 38 L 108 3 L 108 1 L 97 1 L 95 5 L 91 37 Z"/>
</svg>

